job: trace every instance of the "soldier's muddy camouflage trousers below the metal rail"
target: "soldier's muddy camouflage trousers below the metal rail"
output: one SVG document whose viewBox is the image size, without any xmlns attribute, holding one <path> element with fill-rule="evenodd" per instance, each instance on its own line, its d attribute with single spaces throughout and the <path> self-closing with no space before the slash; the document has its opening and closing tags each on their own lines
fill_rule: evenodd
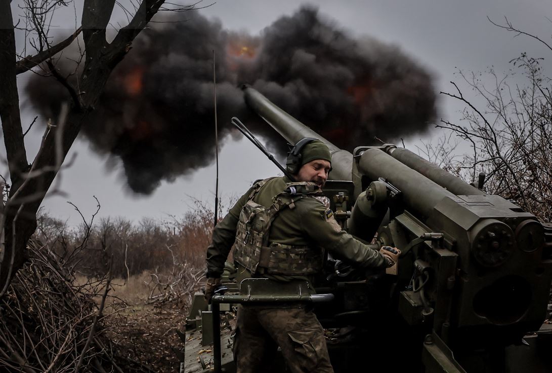
<svg viewBox="0 0 552 373">
<path fill-rule="evenodd" d="M 333 373 L 324 330 L 304 308 L 238 307 L 234 340 L 237 373 L 279 372 L 278 346 L 292 373 Z"/>
</svg>

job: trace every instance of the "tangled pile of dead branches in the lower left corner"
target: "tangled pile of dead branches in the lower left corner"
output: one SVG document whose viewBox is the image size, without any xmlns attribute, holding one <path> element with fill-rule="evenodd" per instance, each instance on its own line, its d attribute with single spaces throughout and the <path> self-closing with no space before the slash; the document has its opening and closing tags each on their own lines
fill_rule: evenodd
<svg viewBox="0 0 552 373">
<path fill-rule="evenodd" d="M 0 370 L 147 371 L 118 355 L 105 337 L 103 314 L 117 307 L 104 309 L 108 279 L 77 285 L 47 246 L 31 241 L 28 251 L 28 262 L 0 301 Z M 94 295 L 103 295 L 100 307 Z"/>
</svg>

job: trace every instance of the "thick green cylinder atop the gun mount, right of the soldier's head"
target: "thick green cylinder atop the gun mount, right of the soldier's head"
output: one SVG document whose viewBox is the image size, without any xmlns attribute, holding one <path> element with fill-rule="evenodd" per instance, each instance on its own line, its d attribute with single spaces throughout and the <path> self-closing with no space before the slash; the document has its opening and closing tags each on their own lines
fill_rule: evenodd
<svg viewBox="0 0 552 373">
<path fill-rule="evenodd" d="M 431 215 L 433 207 L 443 198 L 457 198 L 453 193 L 380 149 L 372 148 L 364 151 L 360 157 L 359 167 L 371 180 L 378 180 L 379 177 L 386 178 L 403 193 L 407 206 L 425 217 Z"/>
</svg>

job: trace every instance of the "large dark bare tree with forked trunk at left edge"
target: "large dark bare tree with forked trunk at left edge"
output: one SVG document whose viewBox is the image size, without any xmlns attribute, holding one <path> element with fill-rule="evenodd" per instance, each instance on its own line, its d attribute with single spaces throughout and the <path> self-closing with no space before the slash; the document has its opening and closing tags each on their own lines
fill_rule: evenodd
<svg viewBox="0 0 552 373">
<path fill-rule="evenodd" d="M 130 50 L 132 41 L 160 10 L 186 11 L 194 5 L 174 3 L 163 5 L 164 0 L 136 0 L 125 8 L 129 22 L 121 27 L 112 41 L 106 39 L 106 29 L 112 17 L 116 0 L 84 0 L 81 26 L 68 38 L 52 44 L 49 26 L 52 14 L 71 0 L 24 0 L 23 21 L 14 22 L 10 0 L 0 0 L 0 119 L 6 147 L 9 170 L 8 198 L 2 215 L 5 243 L 0 253 L 0 296 L 6 291 L 10 279 L 25 261 L 25 247 L 36 228 L 36 213 L 46 192 L 70 150 L 81 126 L 94 110 L 110 73 Z M 30 46 L 34 55 L 26 50 L 18 52 L 15 30 L 32 34 Z M 68 78 L 56 69 L 56 54 L 64 50 L 82 33 L 82 66 L 76 77 Z M 25 41 L 25 45 L 27 42 Z M 23 55 L 25 55 L 23 57 Z M 42 64 L 45 73 L 54 76 L 70 93 L 71 102 L 56 123 L 47 125 L 38 153 L 29 164 L 24 144 L 22 119 L 16 77 Z M 33 122 L 34 123 L 34 122 Z M 31 123 L 32 125 L 32 123 Z"/>
</svg>

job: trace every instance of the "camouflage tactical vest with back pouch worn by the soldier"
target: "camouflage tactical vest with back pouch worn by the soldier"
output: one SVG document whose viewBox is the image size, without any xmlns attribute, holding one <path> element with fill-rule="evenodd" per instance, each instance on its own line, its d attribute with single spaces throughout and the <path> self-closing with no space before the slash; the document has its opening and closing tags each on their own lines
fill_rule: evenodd
<svg viewBox="0 0 552 373">
<path fill-rule="evenodd" d="M 320 248 L 269 244 L 270 225 L 280 211 L 295 208 L 301 198 L 319 196 L 321 189 L 311 182 L 287 183 L 284 192 L 272 199 L 269 208 L 253 201 L 261 187 L 270 179 L 253 185 L 247 203 L 240 213 L 233 258 L 251 274 L 311 275 L 322 270 Z"/>
</svg>

